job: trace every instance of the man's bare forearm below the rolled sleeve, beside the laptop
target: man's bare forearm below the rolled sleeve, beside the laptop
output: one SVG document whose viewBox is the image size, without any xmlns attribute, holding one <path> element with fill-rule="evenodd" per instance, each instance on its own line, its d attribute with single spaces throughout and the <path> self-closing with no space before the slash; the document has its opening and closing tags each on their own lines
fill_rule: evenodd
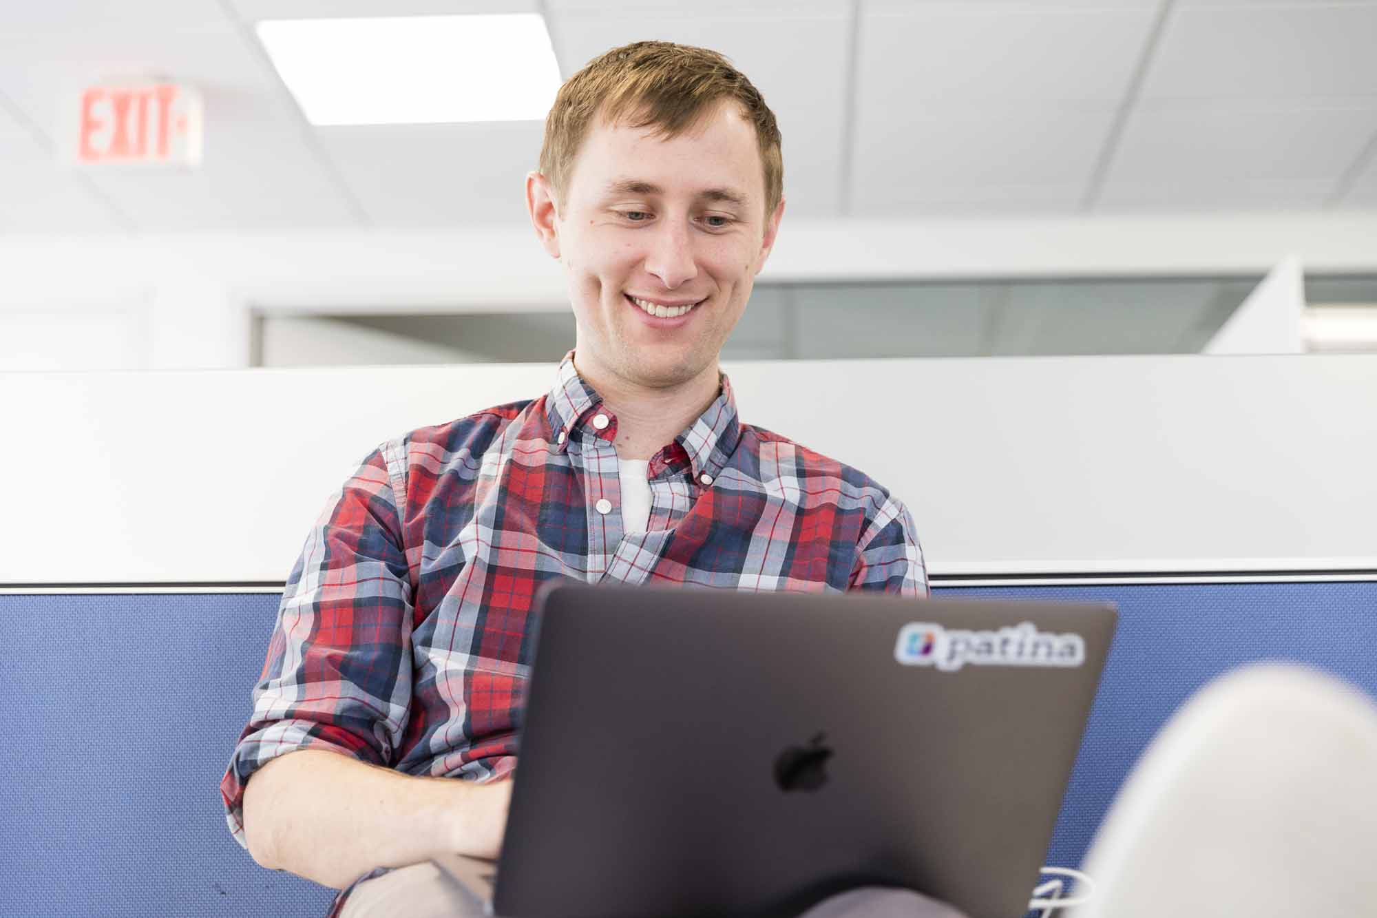
<svg viewBox="0 0 1377 918">
<path fill-rule="evenodd" d="M 341 889 L 438 852 L 496 857 L 507 787 L 414 777 L 324 750 L 275 758 L 244 788 L 253 860 Z"/>
</svg>

